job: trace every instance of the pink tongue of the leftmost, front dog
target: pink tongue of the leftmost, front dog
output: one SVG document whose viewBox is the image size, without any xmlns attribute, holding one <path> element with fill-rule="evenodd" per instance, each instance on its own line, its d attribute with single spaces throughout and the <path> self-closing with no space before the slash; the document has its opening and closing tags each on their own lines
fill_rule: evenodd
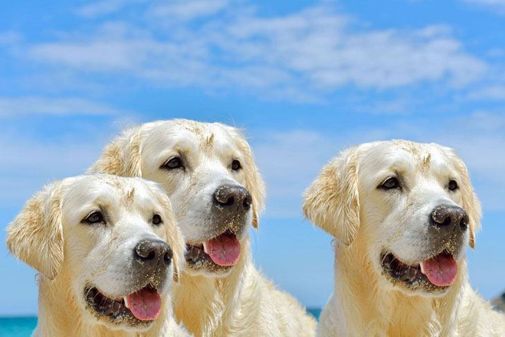
<svg viewBox="0 0 505 337">
<path fill-rule="evenodd" d="M 127 307 L 139 320 L 156 320 L 161 310 L 161 298 L 156 289 L 145 287 L 127 295 Z"/>
</svg>

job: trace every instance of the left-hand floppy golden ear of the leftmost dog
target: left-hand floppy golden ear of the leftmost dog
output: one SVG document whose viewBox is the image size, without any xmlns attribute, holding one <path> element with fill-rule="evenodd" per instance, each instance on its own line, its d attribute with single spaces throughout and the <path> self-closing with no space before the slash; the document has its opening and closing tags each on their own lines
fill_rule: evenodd
<svg viewBox="0 0 505 337">
<path fill-rule="evenodd" d="M 63 262 L 61 182 L 28 200 L 7 228 L 9 251 L 53 280 Z"/>
</svg>

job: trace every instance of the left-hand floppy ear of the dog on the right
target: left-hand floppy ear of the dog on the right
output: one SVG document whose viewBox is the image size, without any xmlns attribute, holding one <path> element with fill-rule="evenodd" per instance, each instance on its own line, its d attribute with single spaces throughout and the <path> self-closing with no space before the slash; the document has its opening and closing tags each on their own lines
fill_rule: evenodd
<svg viewBox="0 0 505 337">
<path fill-rule="evenodd" d="M 360 227 L 357 148 L 341 152 L 304 192 L 304 215 L 349 245 Z"/>
</svg>

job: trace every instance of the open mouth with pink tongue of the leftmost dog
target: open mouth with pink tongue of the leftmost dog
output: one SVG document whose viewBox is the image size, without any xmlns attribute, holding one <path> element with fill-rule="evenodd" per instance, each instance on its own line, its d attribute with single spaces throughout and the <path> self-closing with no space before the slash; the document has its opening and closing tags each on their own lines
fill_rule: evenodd
<svg viewBox="0 0 505 337">
<path fill-rule="evenodd" d="M 86 304 L 95 315 L 105 316 L 116 324 L 147 326 L 161 311 L 161 297 L 151 284 L 122 298 L 110 298 L 96 287 L 84 289 Z"/>
</svg>

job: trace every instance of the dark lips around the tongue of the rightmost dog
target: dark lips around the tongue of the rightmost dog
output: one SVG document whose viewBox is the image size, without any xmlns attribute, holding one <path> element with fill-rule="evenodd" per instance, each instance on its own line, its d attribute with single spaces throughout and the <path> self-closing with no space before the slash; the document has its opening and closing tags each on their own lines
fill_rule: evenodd
<svg viewBox="0 0 505 337">
<path fill-rule="evenodd" d="M 450 284 L 436 284 L 432 282 L 430 280 L 432 277 L 429 277 L 427 275 L 428 271 L 425 271 L 425 262 L 430 259 L 436 259 L 439 255 L 450 255 L 451 258 L 453 256 L 452 253 L 444 248 L 437 254 L 433 254 L 426 259 L 421 259 L 420 262 L 405 262 L 394 253 L 384 251 L 380 255 L 380 260 L 383 270 L 389 277 L 392 277 L 394 282 L 401 282 L 407 286 L 424 284 L 430 286 L 430 289 L 447 289 Z"/>
</svg>

